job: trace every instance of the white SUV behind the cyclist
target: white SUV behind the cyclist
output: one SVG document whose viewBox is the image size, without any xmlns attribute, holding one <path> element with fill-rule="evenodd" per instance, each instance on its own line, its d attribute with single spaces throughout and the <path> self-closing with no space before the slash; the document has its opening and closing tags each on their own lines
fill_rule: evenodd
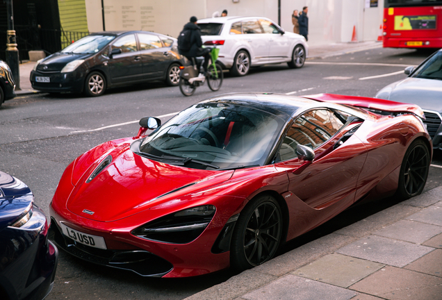
<svg viewBox="0 0 442 300">
<path fill-rule="evenodd" d="M 272 63 L 300 68 L 309 52 L 302 35 L 286 32 L 265 17 L 213 17 L 197 24 L 204 45 L 216 45 L 218 63 L 236 76 L 244 76 L 250 67 Z"/>
</svg>

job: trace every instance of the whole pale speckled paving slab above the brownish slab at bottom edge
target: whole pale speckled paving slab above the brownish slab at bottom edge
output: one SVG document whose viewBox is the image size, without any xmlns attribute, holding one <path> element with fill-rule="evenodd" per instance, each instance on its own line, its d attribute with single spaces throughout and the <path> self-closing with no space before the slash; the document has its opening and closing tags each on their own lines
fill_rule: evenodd
<svg viewBox="0 0 442 300">
<path fill-rule="evenodd" d="M 433 250 L 434 248 L 431 247 L 370 235 L 336 252 L 395 267 L 404 267 Z"/>
</svg>

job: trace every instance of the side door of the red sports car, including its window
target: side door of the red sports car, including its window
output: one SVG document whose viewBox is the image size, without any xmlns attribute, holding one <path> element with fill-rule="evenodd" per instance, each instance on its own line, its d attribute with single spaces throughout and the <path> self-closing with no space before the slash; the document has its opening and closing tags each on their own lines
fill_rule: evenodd
<svg viewBox="0 0 442 300">
<path fill-rule="evenodd" d="M 281 145 L 281 163 L 276 167 L 287 169 L 288 190 L 311 208 L 354 202 L 367 153 L 363 142 L 352 135 L 361 121 L 344 124 L 345 119 L 349 117 L 344 113 L 328 108 L 307 111 L 295 119 Z M 297 144 L 314 149 L 313 163 L 297 158 Z M 304 163 L 307 166 L 300 167 Z"/>
</svg>

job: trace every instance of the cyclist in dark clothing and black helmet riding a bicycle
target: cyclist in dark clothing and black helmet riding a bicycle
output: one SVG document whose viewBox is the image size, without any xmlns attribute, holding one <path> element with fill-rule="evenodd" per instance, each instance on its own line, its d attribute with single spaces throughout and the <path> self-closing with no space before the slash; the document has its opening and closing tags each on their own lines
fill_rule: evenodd
<svg viewBox="0 0 442 300">
<path fill-rule="evenodd" d="M 178 38 L 178 51 L 190 61 L 197 56 L 204 56 L 203 69 L 207 74 L 208 60 L 211 58 L 211 49 L 202 48 L 201 28 L 197 25 L 197 17 L 190 17 L 190 22 L 184 25 Z"/>
</svg>

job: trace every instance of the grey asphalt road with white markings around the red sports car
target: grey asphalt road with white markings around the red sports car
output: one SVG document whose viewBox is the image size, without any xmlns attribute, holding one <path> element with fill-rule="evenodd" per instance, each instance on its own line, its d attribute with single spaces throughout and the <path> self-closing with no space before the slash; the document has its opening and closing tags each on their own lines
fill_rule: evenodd
<svg viewBox="0 0 442 300">
<path fill-rule="evenodd" d="M 226 73 L 219 92 L 327 92 L 373 97 L 388 83 L 404 78 L 401 71 L 405 66 L 418 65 L 430 53 L 379 48 L 309 60 L 302 69 L 272 65 L 252 69 L 242 78 Z M 171 114 L 216 94 L 204 85 L 193 97 L 183 97 L 179 88 L 150 83 L 109 90 L 99 98 L 71 94 L 17 97 L 0 107 L 0 169 L 27 183 L 35 194 L 35 203 L 49 215 L 49 202 L 58 180 L 74 158 L 107 140 L 136 135 L 141 117 L 164 116 L 164 122 Z M 435 167 L 430 168 L 425 190 L 441 185 L 442 168 L 437 167 L 442 165 L 441 152 L 434 153 L 432 164 Z M 285 250 L 393 203 L 367 205 L 290 242 Z M 54 290 L 47 299 L 183 299 L 232 275 L 227 270 L 199 278 L 142 278 L 90 265 L 60 251 Z"/>
</svg>

